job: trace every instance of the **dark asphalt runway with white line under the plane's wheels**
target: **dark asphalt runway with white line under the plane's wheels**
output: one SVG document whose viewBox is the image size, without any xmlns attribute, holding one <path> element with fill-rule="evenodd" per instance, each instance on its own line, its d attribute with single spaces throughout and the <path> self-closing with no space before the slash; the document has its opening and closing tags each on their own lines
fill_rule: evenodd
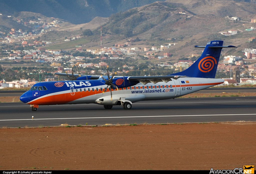
<svg viewBox="0 0 256 174">
<path fill-rule="evenodd" d="M 116 125 L 256 121 L 256 97 L 176 98 L 104 109 L 97 104 L 39 106 L 0 103 L 0 127 L 47 127 L 61 124 Z M 33 117 L 33 119 L 32 119 Z"/>
</svg>

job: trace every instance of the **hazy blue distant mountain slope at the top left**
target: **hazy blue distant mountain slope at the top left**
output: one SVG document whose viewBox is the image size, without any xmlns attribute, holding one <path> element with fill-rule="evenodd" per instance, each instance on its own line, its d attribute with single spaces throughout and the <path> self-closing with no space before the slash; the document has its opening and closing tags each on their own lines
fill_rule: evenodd
<svg viewBox="0 0 256 174">
<path fill-rule="evenodd" d="M 153 2 L 155 0 L 1 0 L 0 13 L 16 17 L 21 11 L 30 11 L 81 24 L 90 22 L 97 16 L 109 17 L 111 14 Z"/>
</svg>

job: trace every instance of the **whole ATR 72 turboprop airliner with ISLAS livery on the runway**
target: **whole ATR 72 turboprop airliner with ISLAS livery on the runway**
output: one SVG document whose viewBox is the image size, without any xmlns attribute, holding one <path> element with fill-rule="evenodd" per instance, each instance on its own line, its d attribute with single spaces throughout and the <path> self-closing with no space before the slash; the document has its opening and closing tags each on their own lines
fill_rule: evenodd
<svg viewBox="0 0 256 174">
<path fill-rule="evenodd" d="M 89 76 L 55 73 L 72 77 L 70 81 L 39 82 L 20 96 L 33 111 L 39 105 L 95 103 L 111 109 L 122 105 L 131 109 L 132 103 L 142 100 L 165 100 L 180 97 L 224 82 L 215 79 L 223 41 L 210 41 L 201 57 L 182 72 L 167 76 Z"/>
</svg>

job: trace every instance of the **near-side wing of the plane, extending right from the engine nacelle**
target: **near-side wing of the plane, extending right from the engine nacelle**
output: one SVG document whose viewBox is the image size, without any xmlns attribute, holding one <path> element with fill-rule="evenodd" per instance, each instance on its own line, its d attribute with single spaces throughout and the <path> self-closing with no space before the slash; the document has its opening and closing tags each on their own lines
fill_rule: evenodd
<svg viewBox="0 0 256 174">
<path fill-rule="evenodd" d="M 172 79 L 178 79 L 182 77 L 187 77 L 187 76 L 131 76 L 128 77 L 127 80 L 130 81 L 139 81 L 142 84 L 147 84 L 147 83 L 154 83 L 156 84 L 157 82 L 169 82 L 172 81 Z"/>
</svg>

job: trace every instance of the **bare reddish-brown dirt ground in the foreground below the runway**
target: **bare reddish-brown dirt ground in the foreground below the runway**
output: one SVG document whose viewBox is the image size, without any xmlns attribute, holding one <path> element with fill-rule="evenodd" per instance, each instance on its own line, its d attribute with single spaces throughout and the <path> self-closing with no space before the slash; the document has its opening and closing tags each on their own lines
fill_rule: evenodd
<svg viewBox="0 0 256 174">
<path fill-rule="evenodd" d="M 255 122 L 0 129 L 0 170 L 210 170 L 255 165 Z"/>
</svg>

